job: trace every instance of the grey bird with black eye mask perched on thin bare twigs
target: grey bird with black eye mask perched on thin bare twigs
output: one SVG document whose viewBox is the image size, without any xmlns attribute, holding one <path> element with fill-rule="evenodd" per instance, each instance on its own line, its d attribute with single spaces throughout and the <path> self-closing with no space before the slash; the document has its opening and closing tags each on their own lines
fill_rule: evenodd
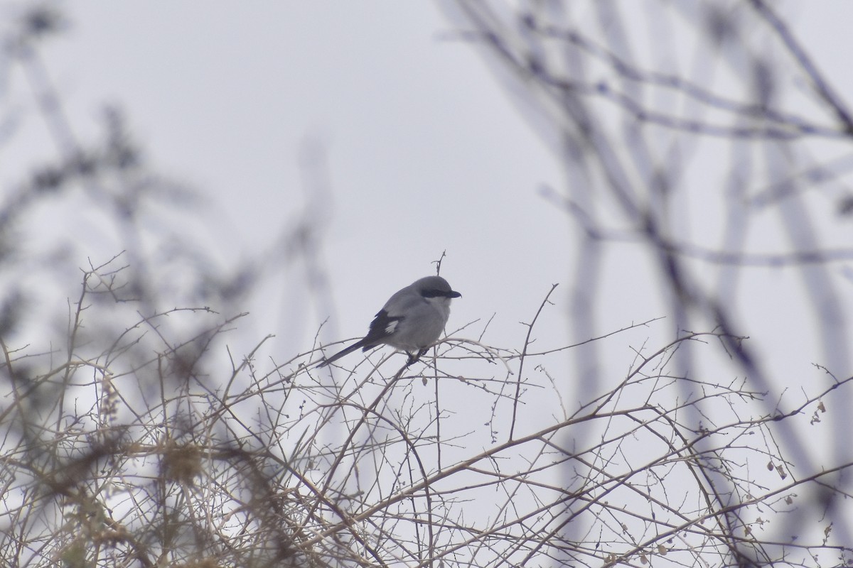
<svg viewBox="0 0 853 568">
<path fill-rule="evenodd" d="M 450 288 L 447 280 L 440 276 L 427 276 L 403 290 L 398 290 L 370 322 L 370 330 L 364 339 L 323 359 L 318 367 L 337 361 L 358 348 L 367 351 L 380 345 L 390 345 L 409 353 L 413 364 L 427 347 L 438 341 L 444 324 L 450 316 L 450 299 L 461 296 Z"/>
</svg>

